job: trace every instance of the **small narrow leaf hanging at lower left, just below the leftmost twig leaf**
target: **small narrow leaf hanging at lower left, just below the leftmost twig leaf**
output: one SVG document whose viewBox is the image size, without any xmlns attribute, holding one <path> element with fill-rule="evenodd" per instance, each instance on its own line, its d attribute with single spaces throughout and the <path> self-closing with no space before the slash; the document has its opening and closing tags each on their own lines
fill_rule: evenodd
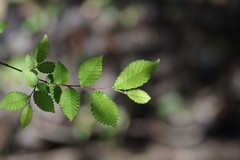
<svg viewBox="0 0 240 160">
<path fill-rule="evenodd" d="M 32 107 L 30 104 L 25 106 L 20 115 L 20 126 L 21 128 L 25 128 L 32 121 Z"/>
</svg>

